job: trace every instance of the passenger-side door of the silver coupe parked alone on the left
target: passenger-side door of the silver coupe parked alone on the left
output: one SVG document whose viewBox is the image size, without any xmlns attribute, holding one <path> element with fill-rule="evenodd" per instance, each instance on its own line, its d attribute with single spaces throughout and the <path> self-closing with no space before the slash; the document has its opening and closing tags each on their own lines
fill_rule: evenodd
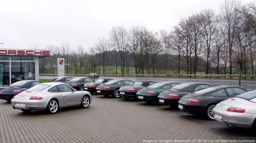
<svg viewBox="0 0 256 143">
<path fill-rule="evenodd" d="M 67 106 L 72 106 L 77 104 L 78 97 L 76 96 L 76 93 L 73 91 L 73 88 L 64 84 L 57 85 L 57 87 L 59 88 L 63 96 L 63 100 Z"/>
</svg>

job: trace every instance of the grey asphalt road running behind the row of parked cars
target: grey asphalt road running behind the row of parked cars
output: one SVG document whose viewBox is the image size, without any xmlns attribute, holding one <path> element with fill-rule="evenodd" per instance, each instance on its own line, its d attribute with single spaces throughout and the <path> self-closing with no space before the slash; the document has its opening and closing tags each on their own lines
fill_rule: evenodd
<svg viewBox="0 0 256 143">
<path fill-rule="evenodd" d="M 42 79 L 53 79 L 53 76 L 39 76 Z M 73 77 L 74 78 L 74 77 Z M 176 81 L 180 83 L 186 82 L 204 82 L 208 83 L 212 86 L 220 86 L 220 85 L 239 85 L 238 80 L 216 80 L 216 79 L 179 79 L 179 78 L 132 78 L 132 77 L 100 77 L 100 78 L 112 78 L 112 79 L 130 79 L 134 82 L 141 80 L 151 80 L 156 82 L 164 82 L 164 81 Z M 241 86 L 247 90 L 256 88 L 256 81 L 241 81 Z"/>
</svg>

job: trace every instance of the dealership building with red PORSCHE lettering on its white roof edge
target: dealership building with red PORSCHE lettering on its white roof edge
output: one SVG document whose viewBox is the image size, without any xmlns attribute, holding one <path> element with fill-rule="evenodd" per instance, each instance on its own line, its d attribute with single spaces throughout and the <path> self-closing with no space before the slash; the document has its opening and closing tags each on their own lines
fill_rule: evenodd
<svg viewBox="0 0 256 143">
<path fill-rule="evenodd" d="M 53 50 L 0 49 L 0 87 L 39 80 L 39 58 L 47 56 L 53 56 Z"/>
</svg>

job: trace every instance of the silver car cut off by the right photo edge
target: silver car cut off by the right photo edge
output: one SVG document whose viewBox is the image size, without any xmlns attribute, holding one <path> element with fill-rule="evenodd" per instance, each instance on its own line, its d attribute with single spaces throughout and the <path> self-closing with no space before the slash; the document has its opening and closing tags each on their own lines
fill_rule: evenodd
<svg viewBox="0 0 256 143">
<path fill-rule="evenodd" d="M 214 120 L 228 127 L 256 129 L 255 109 L 256 90 L 247 91 L 218 103 L 213 108 Z"/>
</svg>

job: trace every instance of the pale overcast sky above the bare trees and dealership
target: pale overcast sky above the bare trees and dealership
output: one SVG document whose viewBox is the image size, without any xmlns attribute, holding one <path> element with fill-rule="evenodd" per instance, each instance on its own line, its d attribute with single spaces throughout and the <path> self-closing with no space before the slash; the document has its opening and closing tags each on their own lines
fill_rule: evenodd
<svg viewBox="0 0 256 143">
<path fill-rule="evenodd" d="M 249 2 L 250 0 L 242 0 Z M 145 25 L 170 31 L 192 12 L 224 0 L 0 0 L 0 49 L 29 49 L 68 42 L 72 49 L 93 46 L 112 26 Z"/>
</svg>

